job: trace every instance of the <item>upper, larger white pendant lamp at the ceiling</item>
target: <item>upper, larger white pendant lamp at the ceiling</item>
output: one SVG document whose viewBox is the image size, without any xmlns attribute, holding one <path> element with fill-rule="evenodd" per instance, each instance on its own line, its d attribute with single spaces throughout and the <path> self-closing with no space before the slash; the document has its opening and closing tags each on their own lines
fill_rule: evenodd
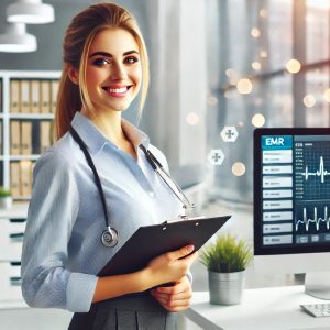
<svg viewBox="0 0 330 330">
<path fill-rule="evenodd" d="M 8 22 L 45 24 L 55 21 L 54 8 L 42 0 L 18 0 L 7 7 Z"/>
</svg>

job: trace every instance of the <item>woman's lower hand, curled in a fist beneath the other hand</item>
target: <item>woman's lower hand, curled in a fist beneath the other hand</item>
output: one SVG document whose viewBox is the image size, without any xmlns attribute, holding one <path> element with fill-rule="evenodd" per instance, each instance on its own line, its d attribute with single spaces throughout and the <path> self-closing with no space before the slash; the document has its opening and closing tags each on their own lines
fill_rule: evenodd
<svg viewBox="0 0 330 330">
<path fill-rule="evenodd" d="M 167 310 L 182 311 L 190 306 L 193 288 L 187 276 L 173 286 L 158 286 L 151 290 L 151 295 Z"/>
</svg>

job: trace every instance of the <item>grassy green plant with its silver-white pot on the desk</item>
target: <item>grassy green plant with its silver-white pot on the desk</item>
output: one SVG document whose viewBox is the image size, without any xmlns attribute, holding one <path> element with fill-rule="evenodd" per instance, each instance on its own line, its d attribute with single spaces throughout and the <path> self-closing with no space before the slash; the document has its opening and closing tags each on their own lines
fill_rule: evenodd
<svg viewBox="0 0 330 330">
<path fill-rule="evenodd" d="M 219 305 L 240 304 L 245 268 L 252 260 L 252 249 L 243 240 L 231 234 L 218 237 L 200 255 L 208 268 L 210 302 Z"/>
</svg>

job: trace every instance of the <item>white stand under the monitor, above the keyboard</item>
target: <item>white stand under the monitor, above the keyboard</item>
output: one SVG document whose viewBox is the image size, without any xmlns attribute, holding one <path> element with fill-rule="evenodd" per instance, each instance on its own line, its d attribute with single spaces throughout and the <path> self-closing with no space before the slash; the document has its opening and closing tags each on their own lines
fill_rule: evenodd
<svg viewBox="0 0 330 330">
<path fill-rule="evenodd" d="M 305 293 L 319 299 L 330 300 L 330 272 L 307 273 Z"/>
</svg>

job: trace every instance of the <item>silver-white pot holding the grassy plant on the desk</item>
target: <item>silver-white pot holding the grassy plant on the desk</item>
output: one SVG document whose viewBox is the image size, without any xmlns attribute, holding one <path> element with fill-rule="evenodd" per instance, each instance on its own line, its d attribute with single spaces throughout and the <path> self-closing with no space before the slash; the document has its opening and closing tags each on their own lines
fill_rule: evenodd
<svg viewBox="0 0 330 330">
<path fill-rule="evenodd" d="M 211 304 L 240 304 L 244 286 L 245 271 L 234 273 L 215 273 L 209 271 L 209 292 Z"/>
</svg>

